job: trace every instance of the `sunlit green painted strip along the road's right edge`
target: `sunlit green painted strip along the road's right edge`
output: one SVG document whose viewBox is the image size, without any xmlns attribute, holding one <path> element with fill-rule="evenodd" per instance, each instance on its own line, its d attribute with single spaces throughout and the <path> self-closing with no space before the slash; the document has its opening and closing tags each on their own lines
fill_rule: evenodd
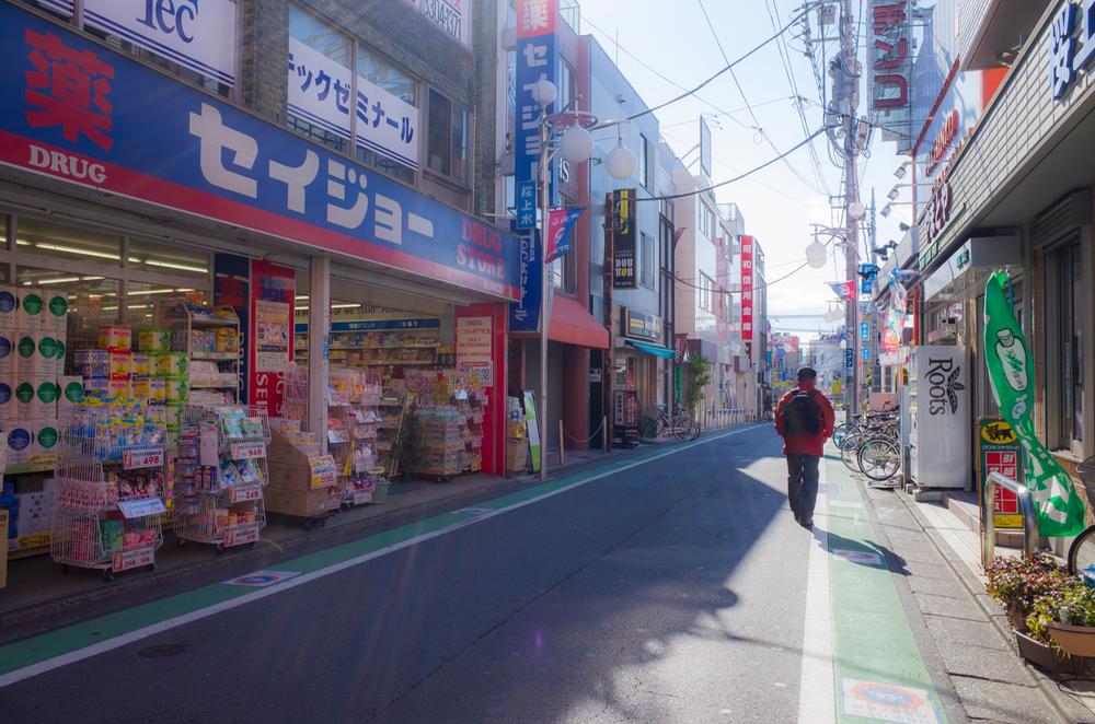
<svg viewBox="0 0 1095 724">
<path fill-rule="evenodd" d="M 946 712 L 865 510 L 868 504 L 843 465 L 823 463 L 829 497 L 829 581 L 832 595 L 837 721 L 945 724 Z"/>
</svg>

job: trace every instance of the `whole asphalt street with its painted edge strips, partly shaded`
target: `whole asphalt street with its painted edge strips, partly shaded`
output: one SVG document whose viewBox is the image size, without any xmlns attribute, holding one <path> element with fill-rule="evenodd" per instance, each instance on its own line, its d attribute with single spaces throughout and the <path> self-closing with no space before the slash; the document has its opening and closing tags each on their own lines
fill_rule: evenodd
<svg viewBox="0 0 1095 724">
<path fill-rule="evenodd" d="M 815 530 L 799 527 L 779 452 L 768 425 L 741 428 L 285 561 L 295 577 L 270 587 L 219 583 L 9 644 L 0 711 L 966 721 L 909 588 L 929 559 L 889 547 L 832 459 Z"/>
</svg>

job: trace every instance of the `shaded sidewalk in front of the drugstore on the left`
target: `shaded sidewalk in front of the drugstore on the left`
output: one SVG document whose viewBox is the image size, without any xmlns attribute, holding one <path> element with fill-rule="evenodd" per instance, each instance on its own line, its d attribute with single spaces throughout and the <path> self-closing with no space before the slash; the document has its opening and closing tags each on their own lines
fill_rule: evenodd
<svg viewBox="0 0 1095 724">
<path fill-rule="evenodd" d="M 707 434 L 721 432 L 724 430 Z M 557 479 L 675 442 L 647 441 L 635 449 L 614 448 L 608 454 L 599 449 L 567 451 L 566 464 L 562 467 L 556 453 L 548 458 L 550 476 Z M 393 482 L 383 504 L 341 511 L 326 518 L 322 527 L 306 529 L 298 518 L 272 514 L 254 549 L 229 549 L 223 554 L 218 554 L 211 546 L 200 544 L 187 542 L 180 547 L 174 534 L 165 532 L 164 544 L 157 551 L 154 571 L 127 571 L 111 583 L 104 582 L 95 570 L 72 569 L 62 574 L 61 567 L 48 554 L 13 560 L 9 562 L 8 587 L 0 588 L 0 643 L 39 632 L 46 628 L 44 622 L 48 622 L 50 629 L 57 628 L 122 607 L 155 600 L 193 586 L 276 568 L 278 561 L 292 556 L 472 507 L 539 483 L 539 475 L 512 478 L 469 475 L 442 483 L 422 480 Z"/>
</svg>

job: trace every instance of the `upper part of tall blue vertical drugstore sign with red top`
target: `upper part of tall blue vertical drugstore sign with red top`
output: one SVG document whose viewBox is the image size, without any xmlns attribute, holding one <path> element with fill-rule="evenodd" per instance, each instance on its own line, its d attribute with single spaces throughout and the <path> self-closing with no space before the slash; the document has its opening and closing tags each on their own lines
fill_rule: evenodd
<svg viewBox="0 0 1095 724">
<path fill-rule="evenodd" d="M 555 83 L 558 0 L 517 2 L 517 139 L 514 175 L 518 188 L 540 176 L 540 104 L 533 97 L 537 81 Z M 544 113 L 553 113 L 554 104 Z"/>
</svg>

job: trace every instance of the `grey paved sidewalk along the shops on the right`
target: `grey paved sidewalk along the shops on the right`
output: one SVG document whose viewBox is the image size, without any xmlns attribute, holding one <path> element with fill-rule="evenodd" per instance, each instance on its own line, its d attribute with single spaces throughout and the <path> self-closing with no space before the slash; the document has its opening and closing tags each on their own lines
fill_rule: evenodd
<svg viewBox="0 0 1095 724">
<path fill-rule="evenodd" d="M 944 698 L 953 692 L 973 721 L 1095 722 L 1095 699 L 1059 687 L 1019 657 L 1003 609 L 984 591 L 977 535 L 943 504 L 868 488 L 839 459 L 828 465 L 830 479 L 855 486 L 869 503 L 878 544 L 896 558 L 891 571 L 900 573 L 894 579 L 906 608 L 920 614 L 909 623 L 920 628 L 921 652 Z"/>
</svg>

